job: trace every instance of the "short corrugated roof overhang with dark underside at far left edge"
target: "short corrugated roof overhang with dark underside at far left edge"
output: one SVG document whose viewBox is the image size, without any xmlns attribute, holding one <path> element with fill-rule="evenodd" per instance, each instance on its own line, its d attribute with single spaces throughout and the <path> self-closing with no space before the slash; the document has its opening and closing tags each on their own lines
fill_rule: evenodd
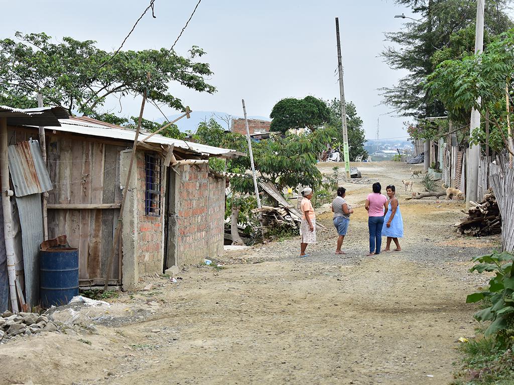
<svg viewBox="0 0 514 385">
<path fill-rule="evenodd" d="M 10 126 L 59 126 L 59 119 L 67 119 L 69 114 L 61 106 L 25 109 L 0 106 L 0 117 L 7 118 Z"/>
</svg>

